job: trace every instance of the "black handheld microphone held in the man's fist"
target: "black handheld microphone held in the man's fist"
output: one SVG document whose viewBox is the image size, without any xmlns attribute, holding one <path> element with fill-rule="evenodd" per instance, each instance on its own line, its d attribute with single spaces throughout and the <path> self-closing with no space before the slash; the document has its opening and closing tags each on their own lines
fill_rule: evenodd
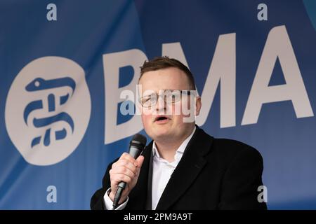
<svg viewBox="0 0 316 224">
<path fill-rule="evenodd" d="M 134 159 L 138 158 L 140 153 L 144 150 L 146 146 L 147 139 L 142 134 L 135 134 L 133 139 L 129 142 L 129 155 L 131 155 Z M 121 193 L 126 188 L 126 183 L 121 181 L 117 188 L 117 193 L 115 193 L 113 200 L 113 208 L 112 210 L 117 208 L 117 204 L 119 204 L 119 200 L 121 199 Z"/>
</svg>

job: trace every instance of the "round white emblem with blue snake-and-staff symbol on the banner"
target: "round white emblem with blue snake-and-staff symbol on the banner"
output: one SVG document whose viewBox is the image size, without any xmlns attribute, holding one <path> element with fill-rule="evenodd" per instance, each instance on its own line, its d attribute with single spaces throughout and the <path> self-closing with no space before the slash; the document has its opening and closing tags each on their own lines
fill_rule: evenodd
<svg viewBox="0 0 316 224">
<path fill-rule="evenodd" d="M 84 137 L 91 98 L 84 69 L 65 57 L 41 57 L 15 77 L 6 100 L 6 129 L 33 165 L 67 158 Z"/>
</svg>

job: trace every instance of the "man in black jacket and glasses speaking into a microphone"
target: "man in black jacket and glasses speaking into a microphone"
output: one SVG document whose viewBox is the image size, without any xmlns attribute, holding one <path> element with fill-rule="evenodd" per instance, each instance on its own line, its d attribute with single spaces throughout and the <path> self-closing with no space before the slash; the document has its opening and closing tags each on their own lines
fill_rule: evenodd
<svg viewBox="0 0 316 224">
<path fill-rule="evenodd" d="M 112 209 L 121 181 L 127 186 L 117 209 L 266 209 L 258 201 L 260 153 L 195 125 L 202 102 L 185 65 L 157 57 L 143 64 L 138 84 L 143 126 L 153 141 L 136 160 L 124 153 L 107 167 L 91 209 Z"/>
</svg>

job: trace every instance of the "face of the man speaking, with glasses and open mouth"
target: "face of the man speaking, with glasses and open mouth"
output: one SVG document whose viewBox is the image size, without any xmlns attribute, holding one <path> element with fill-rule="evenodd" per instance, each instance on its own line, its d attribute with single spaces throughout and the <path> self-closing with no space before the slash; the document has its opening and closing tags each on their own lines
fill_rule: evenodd
<svg viewBox="0 0 316 224">
<path fill-rule="evenodd" d="M 142 96 L 146 92 L 155 92 L 157 94 L 161 90 L 190 90 L 190 83 L 186 74 L 177 68 L 167 68 L 157 71 L 147 71 L 140 78 L 139 85 L 142 88 Z M 173 139 L 183 139 L 192 132 L 195 121 L 190 123 L 185 122 L 185 116 L 182 111 L 182 104 L 190 104 L 190 99 L 196 99 L 195 106 L 191 107 L 192 116 L 194 113 L 198 115 L 201 108 L 201 99 L 199 97 L 183 97 L 179 102 L 166 104 L 163 97 L 157 98 L 157 104 L 151 108 L 142 107 L 142 121 L 146 133 L 155 141 Z M 175 114 L 175 109 L 178 106 L 180 111 Z M 171 112 L 171 113 L 170 113 Z M 179 113 L 180 112 L 180 113 Z M 160 120 L 159 117 L 164 119 Z"/>
</svg>

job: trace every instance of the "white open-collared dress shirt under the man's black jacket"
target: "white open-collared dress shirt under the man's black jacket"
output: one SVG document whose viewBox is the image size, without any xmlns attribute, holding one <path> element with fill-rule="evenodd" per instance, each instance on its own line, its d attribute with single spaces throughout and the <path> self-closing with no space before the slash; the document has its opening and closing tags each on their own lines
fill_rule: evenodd
<svg viewBox="0 0 316 224">
<path fill-rule="evenodd" d="M 173 162 L 168 162 L 167 160 L 161 158 L 157 150 L 156 144 L 152 144 L 152 209 L 156 209 L 160 197 L 162 197 L 162 193 L 164 193 L 164 188 L 166 188 L 166 185 L 169 182 L 171 174 L 180 162 L 185 151 L 185 148 L 187 147 L 187 144 L 189 143 L 190 139 L 195 133 L 195 130 L 196 127 L 190 134 L 190 136 L 187 137 L 185 141 L 183 141 L 183 143 L 179 146 L 179 148 L 176 151 L 176 154 L 174 155 Z M 103 200 L 105 202 L 105 207 L 107 209 L 112 209 L 113 202 L 107 195 L 109 190 L 110 188 L 107 189 L 107 192 L 103 197 Z M 124 209 L 126 207 L 127 202 L 129 202 L 129 197 L 127 197 L 127 200 L 124 203 L 120 204 L 119 207 L 117 207 L 117 209 L 115 210 Z"/>
</svg>

